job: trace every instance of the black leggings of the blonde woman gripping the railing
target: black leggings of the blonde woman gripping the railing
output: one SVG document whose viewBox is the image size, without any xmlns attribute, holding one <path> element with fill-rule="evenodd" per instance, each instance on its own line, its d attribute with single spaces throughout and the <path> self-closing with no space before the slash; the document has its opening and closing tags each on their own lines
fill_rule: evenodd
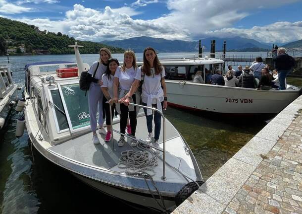
<svg viewBox="0 0 302 214">
<path fill-rule="evenodd" d="M 136 103 L 135 94 L 132 95 L 133 102 Z M 120 104 L 121 108 L 121 120 L 119 122 L 120 132 L 125 134 L 126 126 L 127 126 L 127 119 L 128 119 L 128 106 L 125 106 L 123 103 Z M 137 107 L 134 106 L 134 111 L 129 111 L 129 119 L 130 119 L 130 126 L 131 126 L 131 135 L 135 136 L 135 130 L 137 125 L 136 120 L 136 111 Z"/>
</svg>

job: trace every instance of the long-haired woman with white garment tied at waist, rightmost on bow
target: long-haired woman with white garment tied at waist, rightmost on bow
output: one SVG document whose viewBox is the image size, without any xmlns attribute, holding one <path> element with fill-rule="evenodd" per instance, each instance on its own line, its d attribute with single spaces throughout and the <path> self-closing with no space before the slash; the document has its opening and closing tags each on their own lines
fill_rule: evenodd
<svg viewBox="0 0 302 214">
<path fill-rule="evenodd" d="M 156 52 L 153 48 L 147 47 L 144 51 L 144 62 L 142 70 L 142 104 L 153 107 L 160 111 L 167 108 L 167 90 L 165 84 L 165 70 L 160 64 Z M 144 77 L 144 78 L 143 78 Z M 152 141 L 152 110 L 144 108 L 148 136 L 147 143 Z M 154 112 L 154 146 L 158 147 L 160 134 L 161 115 Z M 156 150 L 158 152 L 158 150 Z"/>
</svg>

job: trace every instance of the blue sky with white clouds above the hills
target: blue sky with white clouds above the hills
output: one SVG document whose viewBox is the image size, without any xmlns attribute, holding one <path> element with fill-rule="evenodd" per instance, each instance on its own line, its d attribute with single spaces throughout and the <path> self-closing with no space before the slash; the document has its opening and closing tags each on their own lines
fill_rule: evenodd
<svg viewBox="0 0 302 214">
<path fill-rule="evenodd" d="M 302 39 L 302 0 L 0 0 L 0 16 L 79 40 Z"/>
</svg>

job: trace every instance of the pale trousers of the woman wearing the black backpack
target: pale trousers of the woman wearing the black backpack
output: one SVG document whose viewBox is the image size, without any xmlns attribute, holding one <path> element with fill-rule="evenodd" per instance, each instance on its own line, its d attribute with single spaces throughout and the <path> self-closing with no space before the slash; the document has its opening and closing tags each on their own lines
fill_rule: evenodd
<svg viewBox="0 0 302 214">
<path fill-rule="evenodd" d="M 101 86 L 92 82 L 89 88 L 89 115 L 90 115 L 90 129 L 97 130 L 97 113 L 99 112 L 99 127 L 103 126 L 103 92 Z"/>
</svg>

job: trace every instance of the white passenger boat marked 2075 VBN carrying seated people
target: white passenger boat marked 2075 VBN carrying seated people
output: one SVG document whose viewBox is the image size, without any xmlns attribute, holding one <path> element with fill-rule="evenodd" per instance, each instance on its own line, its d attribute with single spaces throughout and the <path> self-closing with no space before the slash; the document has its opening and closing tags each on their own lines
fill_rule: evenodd
<svg viewBox="0 0 302 214">
<path fill-rule="evenodd" d="M 223 71 L 224 61 L 214 58 L 165 59 L 168 104 L 180 108 L 231 114 L 279 113 L 299 97 L 301 89 L 288 84 L 286 90 L 257 90 L 194 83 L 196 71 Z M 139 63 L 140 65 L 142 62 Z"/>
</svg>

